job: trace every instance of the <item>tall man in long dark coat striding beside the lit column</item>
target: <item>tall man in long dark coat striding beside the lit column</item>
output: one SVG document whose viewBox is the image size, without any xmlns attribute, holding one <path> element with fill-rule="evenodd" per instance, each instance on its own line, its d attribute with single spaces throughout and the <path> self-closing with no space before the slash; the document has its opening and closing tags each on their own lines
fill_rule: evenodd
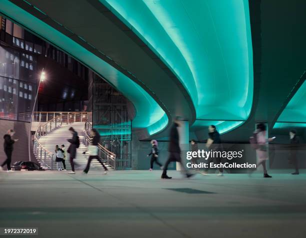
<svg viewBox="0 0 306 238">
<path fill-rule="evenodd" d="M 179 117 L 175 118 L 175 121 L 173 122 L 173 125 L 170 130 L 170 138 L 169 138 L 169 157 L 168 160 L 165 162 L 163 171 L 161 174 L 162 179 L 172 179 L 172 177 L 167 176 L 167 169 L 170 162 L 178 162 L 181 165 L 181 169 L 184 171 L 187 178 L 191 177 L 193 174 L 188 174 L 181 163 L 180 159 L 180 147 L 179 147 L 179 135 L 177 131 L 177 127 L 180 126 Z"/>
</svg>

